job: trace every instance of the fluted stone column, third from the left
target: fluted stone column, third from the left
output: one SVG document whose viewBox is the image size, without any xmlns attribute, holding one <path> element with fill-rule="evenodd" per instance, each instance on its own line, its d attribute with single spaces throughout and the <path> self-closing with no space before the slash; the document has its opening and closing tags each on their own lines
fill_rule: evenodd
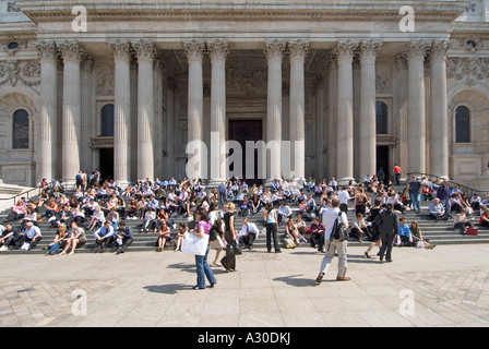
<svg viewBox="0 0 489 349">
<path fill-rule="evenodd" d="M 122 185 L 129 183 L 131 129 L 131 45 L 129 41 L 109 41 L 112 49 L 114 79 L 114 178 Z"/>
</svg>

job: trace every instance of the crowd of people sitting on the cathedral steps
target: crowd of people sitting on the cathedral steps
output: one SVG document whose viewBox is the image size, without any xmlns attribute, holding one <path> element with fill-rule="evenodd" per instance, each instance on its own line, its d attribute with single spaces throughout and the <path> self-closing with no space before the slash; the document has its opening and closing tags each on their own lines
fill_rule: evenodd
<svg viewBox="0 0 489 349">
<path fill-rule="evenodd" d="M 464 231 L 474 227 L 468 216 L 480 213 L 480 226 L 489 226 L 489 195 L 482 200 L 477 194 L 467 197 L 458 186 L 449 186 L 449 181 L 428 181 L 413 177 L 403 190 L 383 176 L 367 176 L 360 183 L 350 181 L 338 186 L 335 178 L 317 182 L 314 179 L 287 181 L 275 179 L 271 185 L 248 185 L 246 180 L 231 178 L 217 188 L 206 189 L 202 180 L 138 180 L 134 184 L 121 185 L 117 180 L 100 181 L 99 172 L 91 176 L 80 171 L 75 179 L 74 192 L 68 192 L 56 180 L 43 180 L 36 202 L 19 200 L 0 226 L 0 249 L 33 249 L 43 239 L 38 222 L 47 220 L 57 229 L 53 241 L 47 245 L 47 253 L 72 254 L 76 248 L 86 244 L 87 234 L 93 234 L 95 252 L 104 252 L 114 243 L 117 253 L 123 253 L 133 242 L 135 232 L 127 225 L 130 219 L 139 219 L 140 233 L 155 233 L 155 248 L 163 251 L 165 245 L 174 245 L 180 251 L 183 236 L 192 228 L 191 220 L 199 209 L 211 216 L 211 222 L 218 219 L 222 225 L 220 242 L 214 265 L 218 264 L 219 251 L 232 241 L 251 249 L 262 231 L 266 232 L 266 248 L 281 252 L 277 232 L 284 227 L 288 248 L 308 243 L 324 250 L 322 213 L 331 208 L 332 201 L 339 201 L 342 212 L 354 210 L 350 239 L 356 241 L 375 240 L 375 215 L 387 205 L 403 215 L 407 210 L 420 213 L 420 202 L 431 201 L 428 214 L 436 220 L 454 218 L 454 228 Z M 398 188 L 398 186 L 397 186 Z M 290 206 L 298 207 L 293 209 Z M 242 227 L 235 227 L 235 214 L 242 217 L 260 215 L 263 227 L 258 228 L 249 219 Z M 176 224 L 176 218 L 189 219 L 187 224 Z M 171 234 L 171 230 L 178 231 Z M 409 230 L 409 231 L 408 231 Z M 399 230 L 401 244 L 417 244 L 430 248 L 422 238 L 417 221 L 409 229 Z M 370 250 L 366 252 L 369 255 Z M 222 260 L 227 270 L 235 269 L 235 261 Z"/>
</svg>

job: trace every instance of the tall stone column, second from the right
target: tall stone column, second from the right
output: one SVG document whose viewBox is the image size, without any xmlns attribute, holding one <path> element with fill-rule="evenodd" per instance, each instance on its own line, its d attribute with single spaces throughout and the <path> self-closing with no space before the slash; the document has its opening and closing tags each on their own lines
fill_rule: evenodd
<svg viewBox="0 0 489 349">
<path fill-rule="evenodd" d="M 426 95 L 425 55 L 427 44 L 412 41 L 408 47 L 408 161 L 407 172 L 425 173 L 426 166 Z"/>
</svg>

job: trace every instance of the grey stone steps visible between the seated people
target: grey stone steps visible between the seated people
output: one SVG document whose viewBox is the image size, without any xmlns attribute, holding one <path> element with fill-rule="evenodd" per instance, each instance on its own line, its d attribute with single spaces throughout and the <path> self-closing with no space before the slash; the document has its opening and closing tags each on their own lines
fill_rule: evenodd
<svg viewBox="0 0 489 349">
<path fill-rule="evenodd" d="M 298 213 L 298 205 L 295 203 L 288 204 L 290 208 L 294 210 L 294 217 L 296 217 L 296 214 Z M 466 236 L 466 234 L 460 234 L 457 231 L 453 228 L 453 218 L 449 220 L 439 220 L 434 221 L 428 217 L 428 206 L 429 202 L 421 202 L 421 213 L 416 214 L 414 212 L 406 212 L 403 216 L 406 217 L 407 224 L 410 225 L 413 220 L 417 220 L 419 224 L 419 227 L 421 229 L 421 232 L 426 239 L 429 239 L 430 243 L 432 244 L 456 244 L 456 243 L 489 243 L 489 230 L 487 228 L 479 229 L 478 236 Z M 0 224 L 3 221 L 4 217 L 9 214 L 9 209 L 3 210 L 0 214 Z M 241 217 L 239 213 L 239 208 L 235 215 L 235 227 L 237 230 L 240 230 L 242 227 L 243 217 Z M 353 222 L 355 218 L 355 213 L 353 209 L 353 202 L 349 206 L 349 212 L 347 214 L 348 221 Z M 473 221 L 476 226 L 478 226 L 479 216 L 470 216 L 470 221 Z M 248 218 L 251 222 L 254 222 L 259 229 L 262 231 L 263 228 L 263 212 L 257 215 L 248 215 Z M 179 222 L 188 222 L 188 219 L 180 216 L 176 218 L 170 218 L 175 224 Z M 13 222 L 14 227 L 17 227 L 20 225 L 19 221 Z M 155 242 L 157 240 L 157 234 L 154 232 L 147 232 L 147 233 L 141 233 L 139 226 L 142 225 L 142 220 L 133 220 L 128 219 L 127 225 L 132 227 L 133 233 L 134 233 L 134 241 L 129 248 L 128 251 L 156 251 Z M 87 222 L 84 225 L 87 226 Z M 308 222 L 308 227 L 310 226 L 310 222 Z M 13 250 L 12 246 L 9 251 L 0 252 L 1 254 L 10 254 L 10 253 L 46 253 L 46 250 L 44 248 L 52 242 L 55 234 L 57 232 L 57 228 L 52 227 L 49 221 L 44 220 L 39 222 L 39 228 L 43 233 L 41 241 L 37 244 L 37 246 L 31 251 L 21 251 L 21 250 Z M 264 231 L 264 230 L 263 230 Z M 87 243 L 77 249 L 76 253 L 79 252 L 93 252 L 95 250 L 95 241 L 93 237 L 93 232 L 90 232 L 85 229 L 86 237 L 87 237 Z M 171 228 L 171 236 L 175 237 L 177 234 L 177 229 Z M 285 238 L 285 225 L 282 224 L 278 228 L 278 241 L 281 243 L 282 248 L 285 248 L 284 243 Z M 363 240 L 362 242 L 358 241 L 349 241 L 350 245 L 368 245 L 370 241 Z M 301 243 L 299 248 L 310 249 L 311 251 L 314 251 L 310 243 Z M 171 251 L 175 248 L 171 245 L 168 245 L 165 248 L 165 251 Z M 260 233 L 259 238 L 255 240 L 253 244 L 253 250 L 255 251 L 266 251 L 266 238 L 264 233 Z M 273 250 L 273 249 L 272 249 Z M 114 252 L 116 251 L 116 245 L 109 245 L 106 249 L 107 252 Z"/>
</svg>

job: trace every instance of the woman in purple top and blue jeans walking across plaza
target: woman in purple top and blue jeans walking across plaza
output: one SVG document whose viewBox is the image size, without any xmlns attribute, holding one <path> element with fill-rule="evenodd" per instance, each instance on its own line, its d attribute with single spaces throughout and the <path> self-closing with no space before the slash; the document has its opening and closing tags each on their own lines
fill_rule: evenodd
<svg viewBox="0 0 489 349">
<path fill-rule="evenodd" d="M 212 224 L 208 221 L 207 213 L 202 208 L 199 209 L 195 213 L 195 220 L 198 221 L 195 231 L 191 231 L 190 233 L 193 233 L 198 238 L 204 238 L 205 236 L 208 236 L 208 233 L 211 232 Z M 211 287 L 214 287 L 214 285 L 217 284 L 214 273 L 212 272 L 211 266 L 207 263 L 207 255 L 208 244 L 204 255 L 195 254 L 196 285 L 193 287 L 194 290 L 205 289 L 205 278 L 207 278 Z"/>
</svg>

